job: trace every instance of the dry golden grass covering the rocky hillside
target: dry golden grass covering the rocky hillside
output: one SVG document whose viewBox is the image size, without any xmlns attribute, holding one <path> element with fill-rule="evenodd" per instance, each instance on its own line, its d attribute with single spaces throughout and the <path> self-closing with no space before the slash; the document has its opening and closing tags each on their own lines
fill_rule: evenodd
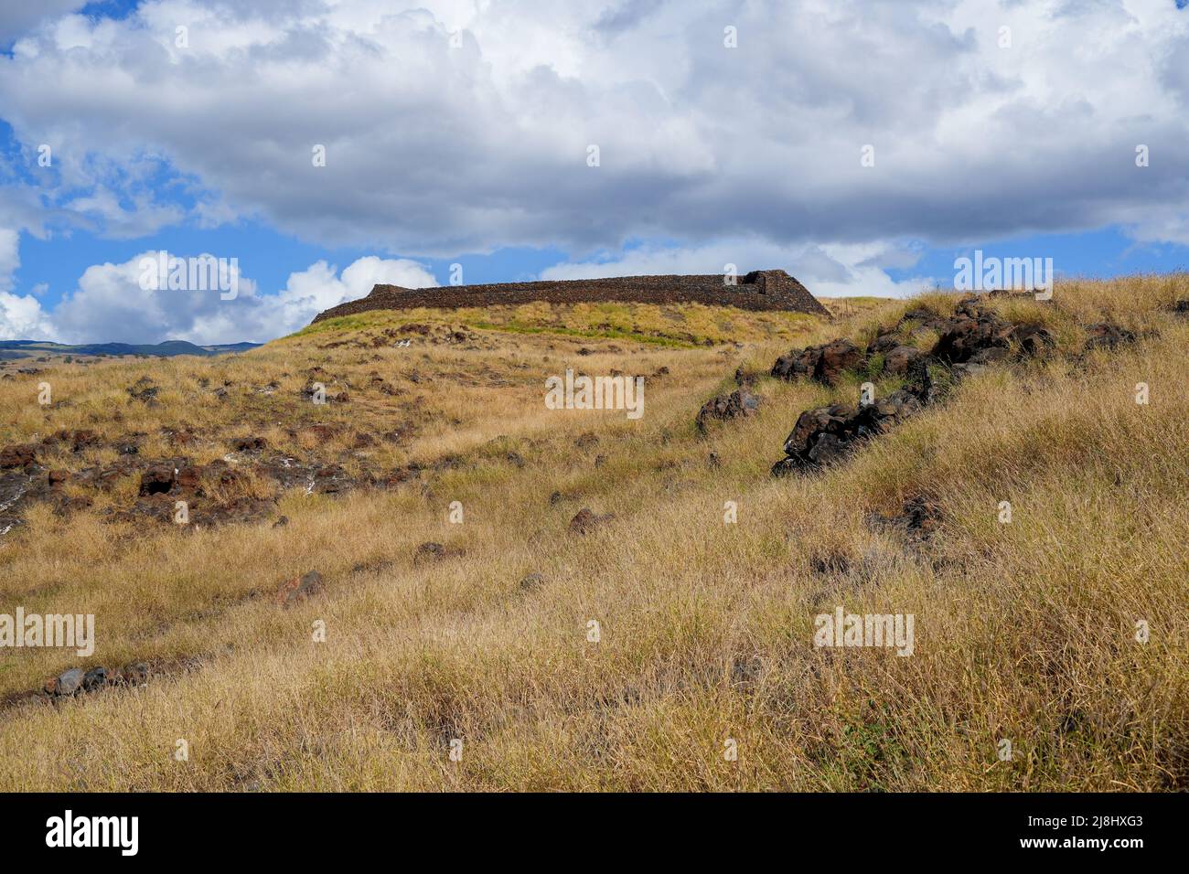
<svg viewBox="0 0 1189 874">
<path fill-rule="evenodd" d="M 850 463 L 780 480 L 768 467 L 797 415 L 851 400 L 860 376 L 835 390 L 761 378 L 761 413 L 704 440 L 699 405 L 736 366 L 766 372 L 792 345 L 866 340 L 920 301 L 856 307 L 832 325 L 704 307 L 369 313 L 234 358 L 2 382 L 0 442 L 140 430 L 161 441 L 143 455 L 168 455 L 177 448 L 159 429 L 184 427 L 185 452 L 202 460 L 253 433 L 378 467 L 460 463 L 390 491 L 295 490 L 277 508 L 283 528 L 183 530 L 107 523 L 99 503 L 65 518 L 36 507 L 0 540 L 0 612 L 93 612 L 99 642 L 87 660 L 0 650 L 0 696 L 73 665 L 166 669 L 140 688 L 0 711 L 0 790 L 1184 790 L 1189 320 L 1166 308 L 1185 296 L 1174 276 L 1068 282 L 1052 306 L 1001 301 L 1046 323 L 1063 354 L 975 377 Z M 1074 360 L 1081 326 L 1103 319 L 1153 333 Z M 410 321 L 470 325 L 476 339 L 361 340 Z M 698 345 L 706 338 L 742 346 Z M 302 401 L 314 366 L 351 401 Z M 649 376 L 631 422 L 547 410 L 543 378 L 566 366 L 669 375 Z M 372 370 L 398 394 L 367 389 Z M 141 375 L 161 407 L 128 402 Z M 42 378 L 63 405 L 36 404 Z M 200 378 L 229 379 L 232 394 L 219 401 Z M 252 390 L 273 379 L 275 394 Z M 1147 405 L 1134 402 L 1140 382 Z M 417 433 L 360 451 L 348 436 L 302 442 L 326 421 L 351 433 L 413 421 Z M 575 447 L 584 433 L 598 445 Z M 921 495 L 943 514 L 931 541 L 869 523 Z M 453 501 L 461 524 L 448 521 Z M 726 501 L 736 524 L 724 524 Z M 1011 524 L 998 521 L 1001 501 Z M 583 507 L 615 520 L 573 535 Z M 465 554 L 415 565 L 423 541 Z M 278 606 L 277 586 L 312 568 L 326 592 Z M 530 572 L 545 583 L 524 591 Z M 837 605 L 913 614 L 913 655 L 816 649 L 813 617 Z M 326 642 L 312 640 L 317 621 Z M 174 757 L 178 738 L 189 761 Z M 737 761 L 723 755 L 728 738 Z M 1011 761 L 998 759 L 1001 738 Z"/>
</svg>

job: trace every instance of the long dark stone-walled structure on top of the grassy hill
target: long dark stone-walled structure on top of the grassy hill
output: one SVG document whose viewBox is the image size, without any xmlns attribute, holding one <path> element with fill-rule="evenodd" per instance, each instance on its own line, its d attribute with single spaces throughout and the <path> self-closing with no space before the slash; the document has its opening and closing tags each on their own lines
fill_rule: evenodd
<svg viewBox="0 0 1189 874">
<path fill-rule="evenodd" d="M 830 319 L 801 283 L 784 270 L 754 270 L 728 285 L 721 273 L 699 276 L 621 276 L 603 279 L 503 282 L 492 285 L 402 288 L 376 285 L 358 301 L 320 313 L 314 321 L 371 309 L 458 309 L 543 301 L 547 303 L 705 303 L 755 310 L 791 310 Z"/>
</svg>

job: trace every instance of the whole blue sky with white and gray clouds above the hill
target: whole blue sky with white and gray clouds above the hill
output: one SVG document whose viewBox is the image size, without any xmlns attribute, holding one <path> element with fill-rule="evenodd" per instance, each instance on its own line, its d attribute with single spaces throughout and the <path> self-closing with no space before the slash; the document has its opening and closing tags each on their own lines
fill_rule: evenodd
<svg viewBox="0 0 1189 874">
<path fill-rule="evenodd" d="M 264 340 L 452 264 L 883 296 L 975 249 L 1184 270 L 1184 5 L 0 11 L 0 339 Z M 158 250 L 234 258 L 238 298 L 137 287 Z"/>
</svg>

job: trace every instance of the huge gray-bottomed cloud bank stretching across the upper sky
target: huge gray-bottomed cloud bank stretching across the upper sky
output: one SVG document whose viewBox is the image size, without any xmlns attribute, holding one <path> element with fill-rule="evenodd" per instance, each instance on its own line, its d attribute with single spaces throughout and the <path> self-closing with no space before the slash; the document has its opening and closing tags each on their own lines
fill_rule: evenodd
<svg viewBox="0 0 1189 874">
<path fill-rule="evenodd" d="M 1177 238 L 1187 21 L 1122 0 L 163 0 L 99 29 L 42 25 L 0 59 L 0 106 L 23 143 L 56 144 L 63 187 L 141 186 L 122 202 L 144 225 L 81 196 L 80 218 L 112 234 L 176 219 L 113 169 L 151 155 L 206 189 L 205 221 L 259 215 L 424 256 L 950 244 L 1119 221 Z"/>
</svg>

